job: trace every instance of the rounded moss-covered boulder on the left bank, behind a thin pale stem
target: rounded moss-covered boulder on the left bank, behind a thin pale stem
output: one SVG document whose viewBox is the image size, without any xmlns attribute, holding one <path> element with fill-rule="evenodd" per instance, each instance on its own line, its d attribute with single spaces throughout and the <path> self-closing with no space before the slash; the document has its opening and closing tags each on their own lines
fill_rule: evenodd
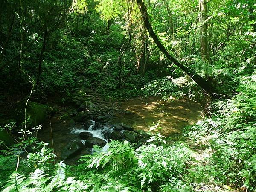
<svg viewBox="0 0 256 192">
<path fill-rule="evenodd" d="M 17 125 L 20 125 L 25 121 L 25 105 L 26 103 L 21 103 L 20 107 L 17 110 Z M 39 124 L 43 124 L 44 120 L 48 116 L 48 107 L 47 105 L 29 102 L 26 109 L 26 117 L 29 118 L 28 127 L 35 127 Z"/>
</svg>

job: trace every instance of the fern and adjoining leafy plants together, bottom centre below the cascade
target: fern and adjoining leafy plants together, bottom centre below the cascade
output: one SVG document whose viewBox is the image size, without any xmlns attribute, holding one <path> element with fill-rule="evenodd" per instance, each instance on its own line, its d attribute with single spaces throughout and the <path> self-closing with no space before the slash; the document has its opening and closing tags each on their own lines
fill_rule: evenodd
<svg viewBox="0 0 256 192">
<path fill-rule="evenodd" d="M 126 141 L 108 145 L 107 151 L 95 147 L 93 155 L 82 157 L 84 163 L 71 167 L 69 174 L 76 170 L 79 179 L 86 180 L 94 191 L 168 191 L 171 186 L 177 191 L 185 184 L 180 179 L 192 158 L 185 146 L 150 144 L 134 151 Z"/>
</svg>

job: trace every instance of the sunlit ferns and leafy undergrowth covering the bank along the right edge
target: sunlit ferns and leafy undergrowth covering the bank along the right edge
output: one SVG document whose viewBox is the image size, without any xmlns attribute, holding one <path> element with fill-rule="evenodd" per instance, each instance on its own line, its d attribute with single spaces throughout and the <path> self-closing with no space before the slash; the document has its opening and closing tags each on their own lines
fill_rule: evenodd
<svg viewBox="0 0 256 192">
<path fill-rule="evenodd" d="M 197 143 L 210 142 L 215 152 L 209 166 L 202 174 L 193 169 L 195 179 L 210 180 L 246 187 L 253 191 L 256 183 L 256 87 L 255 72 L 241 78 L 239 91 L 233 98 L 212 104 L 213 115 L 210 119 L 186 127 L 183 135 Z M 202 175 L 200 178 L 196 175 Z"/>
</svg>

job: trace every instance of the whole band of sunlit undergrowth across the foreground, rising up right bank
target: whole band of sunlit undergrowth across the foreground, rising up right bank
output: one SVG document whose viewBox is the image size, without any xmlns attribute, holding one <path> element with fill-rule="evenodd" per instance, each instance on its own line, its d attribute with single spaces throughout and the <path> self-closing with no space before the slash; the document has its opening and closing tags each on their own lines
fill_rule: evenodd
<svg viewBox="0 0 256 192">
<path fill-rule="evenodd" d="M 19 172 L 12 172 L 17 146 L 1 155 L 5 166 L 0 168 L 0 185 L 6 192 L 185 192 L 204 186 L 208 191 L 255 191 L 255 82 L 255 71 L 243 77 L 236 95 L 213 102 L 211 117 L 184 128 L 183 139 L 178 142 L 166 143 L 158 134 L 154 137 L 158 142 L 135 150 L 127 141 L 112 141 L 108 151 L 95 147 L 94 154 L 82 157 L 79 165 L 60 162 L 54 166 L 52 150 L 31 139 L 25 145 L 35 153 L 21 161 Z"/>
</svg>

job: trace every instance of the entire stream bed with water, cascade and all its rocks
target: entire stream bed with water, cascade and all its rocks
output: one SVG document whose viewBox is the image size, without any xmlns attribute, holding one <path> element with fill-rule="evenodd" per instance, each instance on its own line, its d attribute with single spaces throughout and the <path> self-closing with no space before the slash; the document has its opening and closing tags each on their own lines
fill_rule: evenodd
<svg viewBox="0 0 256 192">
<path fill-rule="evenodd" d="M 160 97 L 136 98 L 106 102 L 94 98 L 79 102 L 74 99 L 69 112 L 60 107 L 44 123 L 38 137 L 51 142 L 57 159 L 73 164 L 82 155 L 91 154 L 94 145 L 108 149 L 111 140 L 128 140 L 134 148 L 149 139 L 148 126 L 160 120 L 159 130 L 167 137 L 180 134 L 182 128 L 201 118 L 200 104 L 190 99 L 164 101 Z"/>
</svg>

